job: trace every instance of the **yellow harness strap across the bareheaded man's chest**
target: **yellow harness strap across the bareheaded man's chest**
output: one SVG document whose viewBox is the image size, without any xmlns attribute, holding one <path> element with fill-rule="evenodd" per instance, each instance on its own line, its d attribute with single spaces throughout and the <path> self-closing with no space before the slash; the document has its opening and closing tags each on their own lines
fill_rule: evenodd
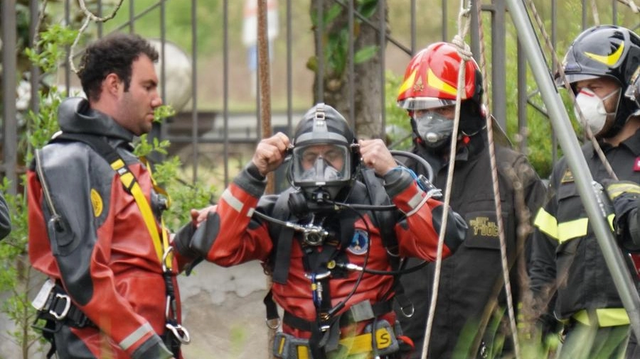
<svg viewBox="0 0 640 359">
<path fill-rule="evenodd" d="M 146 162 L 143 160 L 143 162 Z M 151 206 L 149 205 L 149 201 L 144 197 L 144 192 L 142 192 L 142 188 L 138 184 L 136 177 L 132 172 L 129 171 L 127 166 L 124 164 L 122 159 L 115 160 L 111 163 L 111 167 L 117 173 L 119 173 L 120 182 L 127 187 L 132 196 L 134 197 L 136 204 L 138 205 L 138 209 L 140 209 L 140 213 L 142 214 L 142 219 L 144 220 L 144 225 L 146 226 L 147 231 L 149 231 L 149 235 L 151 236 L 151 241 L 154 243 L 154 249 L 156 250 L 156 255 L 158 255 L 158 259 L 160 263 L 162 263 L 162 257 L 164 255 L 164 248 L 169 248 L 169 238 L 164 230 L 164 221 L 161 220 L 161 228 L 162 228 L 162 238 L 160 238 L 160 234 L 158 233 L 158 227 L 156 226 L 156 219 L 154 217 L 154 212 L 151 210 Z M 149 175 L 151 175 L 151 169 L 149 166 L 146 166 L 149 170 Z M 153 177 L 151 177 L 151 182 L 153 181 Z M 155 187 L 155 185 L 154 185 Z M 171 254 L 166 256 L 165 265 L 168 269 L 171 268 L 171 263 L 173 262 L 173 257 Z"/>
</svg>

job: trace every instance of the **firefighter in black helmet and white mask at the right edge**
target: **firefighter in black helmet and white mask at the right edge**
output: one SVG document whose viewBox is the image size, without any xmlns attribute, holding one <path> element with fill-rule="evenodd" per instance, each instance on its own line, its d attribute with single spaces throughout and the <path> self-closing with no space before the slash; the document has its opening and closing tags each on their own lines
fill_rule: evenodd
<svg viewBox="0 0 640 359">
<path fill-rule="evenodd" d="M 581 123 L 590 128 L 617 176 L 612 180 L 591 141 L 582 145 L 593 180 L 602 183 L 612 199 L 609 223 L 629 258 L 640 250 L 640 106 L 634 96 L 640 37 L 619 26 L 588 28 L 570 45 L 562 69 L 575 94 L 575 109 L 580 109 L 577 118 L 584 119 Z M 565 79 L 556 75 L 559 86 L 565 87 Z M 559 358 L 640 358 L 636 338 L 629 338 L 629 316 L 578 195 L 577 175 L 561 158 L 550 177 L 548 199 L 535 216 L 529 273 L 531 289 L 542 304 L 540 317 L 565 324 Z M 627 265 L 638 286 L 638 272 L 631 260 Z M 540 322 L 548 331 L 548 321 Z"/>
</svg>

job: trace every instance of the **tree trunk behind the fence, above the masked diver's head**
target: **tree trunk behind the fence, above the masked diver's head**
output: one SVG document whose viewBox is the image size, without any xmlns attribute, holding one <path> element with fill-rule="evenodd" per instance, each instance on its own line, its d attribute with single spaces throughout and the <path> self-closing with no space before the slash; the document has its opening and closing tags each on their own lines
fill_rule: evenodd
<svg viewBox="0 0 640 359">
<path fill-rule="evenodd" d="M 323 6 L 324 16 L 329 12 L 331 6 L 335 6 L 333 0 L 311 0 L 311 13 L 316 14 L 319 3 Z M 355 3 L 355 1 L 354 1 Z M 381 9 L 382 8 L 382 9 Z M 380 16 L 387 18 L 387 7 L 376 6 L 375 12 L 367 19 L 367 23 L 353 20 L 353 53 L 371 45 L 380 45 L 380 35 L 375 28 L 369 25 L 378 26 L 380 24 Z M 385 20 L 388 21 L 388 20 Z M 369 60 L 354 65 L 354 81 L 353 81 L 353 104 L 349 93 L 349 73 L 348 73 L 348 36 L 343 36 L 343 51 L 331 51 L 328 43 L 332 38 L 336 38 L 341 31 L 348 31 L 348 9 L 342 8 L 341 13 L 331 21 L 324 24 L 321 29 L 316 26 L 315 31 L 322 31 L 322 41 L 320 48 L 316 43 L 316 60 L 323 61 L 323 89 L 324 96 L 318 96 L 317 77 L 314 80 L 314 98 L 324 99 L 326 104 L 334 106 L 349 123 L 355 124 L 356 134 L 359 138 L 381 138 L 383 135 L 381 114 L 384 111 L 384 104 L 381 100 L 381 92 L 383 91 L 384 82 L 380 79 L 383 73 L 380 71 L 380 52 L 378 51 L 370 57 Z M 385 46 L 385 44 L 383 44 Z M 327 54 L 327 51 L 331 51 Z M 340 55 L 342 54 L 342 56 Z M 328 57 L 332 57 L 328 59 Z M 342 62 L 341 62 L 342 61 Z M 335 62 L 343 63 L 343 66 L 334 66 Z M 314 69 L 317 73 L 318 67 Z M 353 114 L 355 118 L 350 118 L 350 110 L 353 105 Z"/>
</svg>

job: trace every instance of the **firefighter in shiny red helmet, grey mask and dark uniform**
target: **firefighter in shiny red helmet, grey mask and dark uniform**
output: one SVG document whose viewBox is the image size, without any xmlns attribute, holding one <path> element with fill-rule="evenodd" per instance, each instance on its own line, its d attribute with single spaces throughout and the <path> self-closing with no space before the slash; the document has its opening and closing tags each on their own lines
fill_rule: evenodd
<svg viewBox="0 0 640 359">
<path fill-rule="evenodd" d="M 454 134 L 452 120 L 460 64 L 461 57 L 454 45 L 433 43 L 412 58 L 398 94 L 398 105 L 406 109 L 411 118 L 413 152 L 430 163 L 434 185 L 444 190 L 451 141 L 457 140 L 450 205 L 469 225 L 464 243 L 456 253 L 442 261 L 428 358 L 486 358 L 486 355 L 489 358 L 498 355 L 499 358 L 501 353 L 512 353 L 513 340 L 508 329 L 503 289 L 486 115 L 481 105 L 482 79 L 476 62 L 465 62 L 459 133 Z M 524 242 L 528 241 L 528 236 L 518 238 L 516 231 L 521 226 L 530 227 L 528 221 L 523 223 L 518 218 L 518 211 L 528 210 L 533 215 L 545 197 L 545 187 L 525 155 L 498 143 L 495 153 L 515 306 L 520 299 L 516 260 L 526 265 L 523 248 Z M 407 165 L 416 172 L 425 173 L 425 168 L 419 164 Z M 516 204 L 516 182 L 522 186 L 521 208 Z M 411 261 L 409 263 L 412 265 Z M 410 318 L 399 316 L 402 330 L 418 348 L 412 358 L 420 358 L 423 348 L 434 275 L 435 263 L 430 263 L 422 270 L 400 278 L 415 311 Z M 398 310 L 398 314 L 403 312 L 410 311 L 406 308 Z M 487 325 L 496 320 L 502 320 L 500 328 Z"/>
</svg>

